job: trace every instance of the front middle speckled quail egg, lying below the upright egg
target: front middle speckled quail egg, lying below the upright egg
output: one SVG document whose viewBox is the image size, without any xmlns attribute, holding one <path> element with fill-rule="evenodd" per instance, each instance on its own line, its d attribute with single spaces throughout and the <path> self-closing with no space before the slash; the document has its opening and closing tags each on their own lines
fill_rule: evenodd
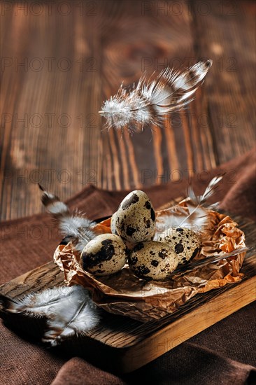
<svg viewBox="0 0 256 385">
<path fill-rule="evenodd" d="M 178 265 L 176 253 L 157 241 L 139 242 L 129 255 L 129 268 L 138 278 L 167 279 Z"/>
</svg>

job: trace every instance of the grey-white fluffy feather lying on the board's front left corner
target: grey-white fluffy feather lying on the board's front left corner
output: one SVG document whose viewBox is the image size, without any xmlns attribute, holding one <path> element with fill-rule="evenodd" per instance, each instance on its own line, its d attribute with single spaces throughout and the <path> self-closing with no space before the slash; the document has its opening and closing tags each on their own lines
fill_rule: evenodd
<svg viewBox="0 0 256 385">
<path fill-rule="evenodd" d="M 99 310 L 82 286 L 55 287 L 22 299 L 0 296 L 3 311 L 31 317 L 46 317 L 43 342 L 52 346 L 73 335 L 85 335 L 99 323 Z"/>
</svg>

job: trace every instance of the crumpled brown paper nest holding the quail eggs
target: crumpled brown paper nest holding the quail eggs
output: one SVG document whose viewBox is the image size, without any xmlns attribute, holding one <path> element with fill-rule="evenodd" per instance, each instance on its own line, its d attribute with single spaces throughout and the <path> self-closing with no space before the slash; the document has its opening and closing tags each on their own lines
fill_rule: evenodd
<svg viewBox="0 0 256 385">
<path fill-rule="evenodd" d="M 180 202 L 180 205 L 185 207 L 185 201 Z M 156 212 L 157 218 L 161 217 L 162 212 Z M 208 216 L 209 228 L 201 236 L 201 251 L 194 260 L 245 246 L 245 235 L 232 218 L 216 211 L 209 211 Z M 110 220 L 97 225 L 95 230 L 99 230 L 99 233 L 111 232 Z M 85 286 L 91 291 L 92 300 L 99 307 L 144 322 L 173 313 L 197 293 L 241 281 L 243 274 L 239 270 L 245 255 L 245 252 L 240 253 L 182 276 L 173 276 L 168 281 L 150 282 L 134 276 L 128 265 L 113 275 L 93 276 L 82 269 L 80 255 L 71 243 L 59 245 L 54 260 L 64 272 L 67 285 Z"/>
</svg>

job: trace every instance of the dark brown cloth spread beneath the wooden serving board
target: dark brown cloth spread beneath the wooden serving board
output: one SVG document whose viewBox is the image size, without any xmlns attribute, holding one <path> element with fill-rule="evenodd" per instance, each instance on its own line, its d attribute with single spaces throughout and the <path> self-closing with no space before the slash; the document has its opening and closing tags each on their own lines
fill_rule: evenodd
<svg viewBox="0 0 256 385">
<path fill-rule="evenodd" d="M 225 171 L 215 200 L 222 208 L 256 220 L 255 148 L 211 172 L 194 176 L 201 193 L 210 178 Z M 184 195 L 187 180 L 145 188 L 157 209 Z M 102 218 L 113 214 L 127 192 L 85 188 L 67 203 Z M 61 235 L 46 214 L 1 223 L 1 279 L 4 283 L 52 258 Z M 81 358 L 67 360 L 15 335 L 1 323 L 1 384 L 256 384 L 256 309 L 250 304 L 180 344 L 136 372 L 116 377 Z M 85 346 L 86 349 L 86 346 Z"/>
</svg>

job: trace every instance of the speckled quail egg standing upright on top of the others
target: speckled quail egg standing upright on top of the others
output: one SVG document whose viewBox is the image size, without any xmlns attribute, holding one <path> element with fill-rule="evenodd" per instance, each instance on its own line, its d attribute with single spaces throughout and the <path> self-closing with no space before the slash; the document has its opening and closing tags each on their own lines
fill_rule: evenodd
<svg viewBox="0 0 256 385">
<path fill-rule="evenodd" d="M 134 190 L 122 200 L 113 223 L 118 235 L 125 241 L 149 241 L 155 235 L 155 211 L 148 195 Z"/>
</svg>

